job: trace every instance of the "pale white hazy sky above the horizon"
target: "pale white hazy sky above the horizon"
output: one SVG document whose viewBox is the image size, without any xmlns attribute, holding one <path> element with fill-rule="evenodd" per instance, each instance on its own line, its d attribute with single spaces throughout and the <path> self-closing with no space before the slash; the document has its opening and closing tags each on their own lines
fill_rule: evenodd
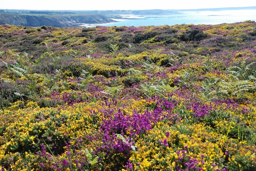
<svg viewBox="0 0 256 171">
<path fill-rule="evenodd" d="M 112 10 L 252 7 L 256 0 L 0 0 L 0 9 Z"/>
</svg>

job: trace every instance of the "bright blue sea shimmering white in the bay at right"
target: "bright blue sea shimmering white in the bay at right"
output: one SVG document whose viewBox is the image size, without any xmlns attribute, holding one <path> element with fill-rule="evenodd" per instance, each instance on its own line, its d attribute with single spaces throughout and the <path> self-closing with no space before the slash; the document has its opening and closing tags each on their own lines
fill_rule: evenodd
<svg viewBox="0 0 256 171">
<path fill-rule="evenodd" d="M 101 24 L 102 26 L 159 26 L 175 24 L 221 24 L 256 21 L 256 10 L 227 10 L 227 11 L 193 11 L 166 16 L 123 16 L 137 18 L 119 22 Z"/>
</svg>

